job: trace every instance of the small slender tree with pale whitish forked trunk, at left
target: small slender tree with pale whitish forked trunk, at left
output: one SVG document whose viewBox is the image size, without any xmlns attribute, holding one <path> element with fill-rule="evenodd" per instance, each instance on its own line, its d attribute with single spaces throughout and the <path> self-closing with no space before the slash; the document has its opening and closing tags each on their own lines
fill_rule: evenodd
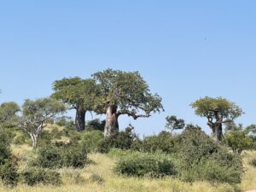
<svg viewBox="0 0 256 192">
<path fill-rule="evenodd" d="M 32 148 L 37 148 L 38 137 L 47 122 L 66 111 L 65 104 L 51 98 L 32 101 L 26 99 L 22 106 L 22 116 L 17 121 L 18 127 L 32 139 Z"/>
</svg>

